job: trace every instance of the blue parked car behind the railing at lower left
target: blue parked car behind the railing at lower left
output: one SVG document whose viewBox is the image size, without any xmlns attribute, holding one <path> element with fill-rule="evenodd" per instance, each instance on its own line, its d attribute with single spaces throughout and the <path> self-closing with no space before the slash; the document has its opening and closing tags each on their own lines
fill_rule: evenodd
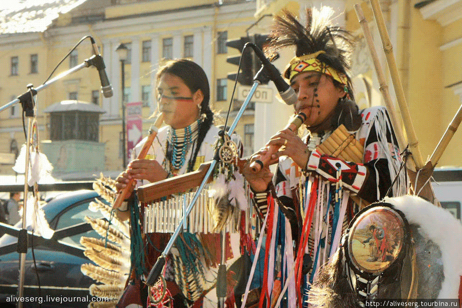
<svg viewBox="0 0 462 308">
<path fill-rule="evenodd" d="M 94 281 L 83 275 L 80 269 L 82 264 L 92 263 L 83 254 L 84 247 L 80 244 L 80 238 L 82 236 L 100 238 L 84 219 L 85 216 L 102 217 L 101 213 L 93 213 L 88 209 L 89 203 L 95 197 L 99 196 L 93 190 L 66 192 L 49 200 L 43 206 L 45 217 L 55 233 L 50 240 L 32 237 L 29 233 L 24 281 L 24 296 L 28 300 L 40 296 L 43 308 L 87 307 L 91 300 L 88 287 Z M 11 302 L 11 299 L 17 296 L 20 256 L 16 252 L 16 245 L 19 229 L 21 229 L 21 222 L 14 227 L 0 224 L 0 234 L 6 233 L 0 238 L 0 306 L 2 307 L 16 305 L 16 302 Z M 32 258 L 32 243 L 35 265 Z M 50 297 L 54 300 L 46 301 Z M 79 299 L 70 301 L 73 297 Z M 56 298 L 63 298 L 63 300 L 56 302 Z M 39 300 L 24 302 L 23 306 L 39 307 Z"/>
</svg>

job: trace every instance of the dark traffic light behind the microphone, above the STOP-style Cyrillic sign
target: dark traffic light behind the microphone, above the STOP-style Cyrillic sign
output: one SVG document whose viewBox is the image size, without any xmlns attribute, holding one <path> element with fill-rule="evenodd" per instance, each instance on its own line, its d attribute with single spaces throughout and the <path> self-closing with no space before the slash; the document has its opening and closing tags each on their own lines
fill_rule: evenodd
<svg viewBox="0 0 462 308">
<path fill-rule="evenodd" d="M 268 35 L 262 34 L 254 34 L 253 36 L 242 36 L 241 38 L 237 38 L 235 40 L 228 40 L 226 42 L 226 46 L 233 47 L 238 49 L 242 52 L 242 48 L 244 48 L 245 43 L 252 42 L 258 48 L 262 49 L 264 44 L 268 40 Z M 227 57 L 226 62 L 235 64 L 239 66 L 239 59 L 241 58 L 240 55 L 237 56 L 230 56 Z M 241 85 L 251 86 L 254 83 L 254 76 L 258 72 L 261 67 L 261 62 L 258 57 L 253 52 L 252 48 L 248 47 L 244 50 L 242 54 L 241 60 L 241 71 L 239 72 L 238 83 Z M 228 79 L 236 80 L 237 73 L 230 73 L 228 74 Z M 262 84 L 267 84 L 269 79 L 263 80 Z"/>
</svg>

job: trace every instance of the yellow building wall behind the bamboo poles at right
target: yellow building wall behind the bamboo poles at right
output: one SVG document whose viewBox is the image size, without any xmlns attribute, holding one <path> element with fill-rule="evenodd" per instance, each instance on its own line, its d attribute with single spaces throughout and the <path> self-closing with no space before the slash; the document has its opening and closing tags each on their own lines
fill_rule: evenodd
<svg viewBox="0 0 462 308">
<path fill-rule="evenodd" d="M 357 48 L 352 56 L 352 77 L 359 106 L 383 105 L 370 51 L 364 42 L 353 7 L 356 3 L 361 5 L 367 17 L 395 108 L 399 110 L 377 25 L 368 1 L 259 0 L 256 16 L 278 14 L 282 9 L 303 15 L 308 6 L 333 7 L 337 24 L 351 30 L 358 39 Z M 380 1 L 380 5 L 422 159 L 425 162 L 432 155 L 462 102 L 462 1 L 397 0 Z M 367 87 L 360 82 L 361 79 L 370 83 L 370 93 L 361 93 L 367 92 Z M 365 96 L 369 98 L 363 100 Z M 462 166 L 461 142 L 462 129 L 459 129 L 442 154 L 438 167 Z"/>
</svg>

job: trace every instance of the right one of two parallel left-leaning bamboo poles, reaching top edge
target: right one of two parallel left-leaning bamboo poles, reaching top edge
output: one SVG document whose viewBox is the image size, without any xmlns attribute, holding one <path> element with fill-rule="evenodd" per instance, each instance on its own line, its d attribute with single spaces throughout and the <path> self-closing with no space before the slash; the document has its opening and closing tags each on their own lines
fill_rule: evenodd
<svg viewBox="0 0 462 308">
<path fill-rule="evenodd" d="M 385 22 L 383 21 L 383 15 L 378 0 L 371 0 L 371 6 L 380 33 L 383 51 L 385 52 L 385 55 L 387 57 L 387 63 L 390 70 L 393 87 L 395 89 L 396 99 L 399 105 L 399 109 L 401 110 L 402 121 L 405 125 L 406 134 L 408 136 L 409 150 L 412 153 L 412 157 L 416 168 L 420 169 L 424 166 L 424 160 L 422 160 L 422 155 L 418 147 L 419 142 L 415 134 L 414 125 L 411 121 L 411 115 L 409 114 L 405 93 L 402 89 L 401 80 L 399 78 L 398 69 L 396 67 L 395 56 L 393 55 L 393 45 L 390 42 L 390 37 L 388 35 Z"/>
</svg>

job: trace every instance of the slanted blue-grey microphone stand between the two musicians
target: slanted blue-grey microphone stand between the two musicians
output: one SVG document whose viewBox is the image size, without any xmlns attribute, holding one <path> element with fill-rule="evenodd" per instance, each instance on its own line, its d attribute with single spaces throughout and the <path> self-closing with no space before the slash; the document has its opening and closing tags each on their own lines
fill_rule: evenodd
<svg viewBox="0 0 462 308">
<path fill-rule="evenodd" d="M 248 103 L 251 101 L 255 91 L 257 90 L 257 87 L 261 84 L 262 80 L 265 80 L 265 72 L 264 68 L 262 67 L 257 74 L 254 77 L 254 84 L 252 88 L 249 90 L 247 97 L 245 101 L 242 103 L 241 108 L 239 109 L 239 112 L 236 115 L 236 118 L 234 119 L 233 124 L 229 127 L 228 131 L 224 131 L 222 134 L 222 138 L 225 138 L 224 134 L 227 135 L 225 138 L 229 140 L 230 136 L 233 134 L 234 130 L 236 129 L 236 126 L 241 119 L 245 108 L 247 108 Z M 226 130 L 226 128 L 224 128 Z M 167 245 L 165 246 L 164 251 L 162 252 L 161 256 L 157 259 L 156 263 L 154 266 L 152 266 L 151 271 L 149 272 L 149 275 L 146 279 L 146 285 L 148 286 L 148 295 L 151 296 L 150 294 L 150 287 L 158 280 L 159 276 L 162 273 L 162 270 L 165 266 L 165 258 L 167 257 L 168 253 L 170 252 L 171 247 L 175 243 L 175 240 L 178 238 L 180 232 L 183 230 L 183 225 L 186 223 L 186 219 L 188 218 L 189 214 L 191 213 L 192 207 L 194 207 L 197 199 L 199 198 L 202 189 L 204 188 L 205 184 L 208 182 L 208 178 L 210 177 L 211 173 L 215 169 L 215 166 L 217 163 L 220 161 L 220 156 L 219 156 L 219 151 L 220 149 L 216 149 L 215 152 L 215 157 L 210 163 L 210 167 L 207 170 L 207 173 L 205 174 L 204 179 L 202 180 L 202 183 L 200 184 L 199 188 L 196 191 L 196 194 L 194 195 L 194 198 L 192 198 L 191 202 L 188 204 L 186 207 L 186 211 L 184 211 L 183 214 L 183 222 L 181 222 L 177 228 L 175 229 L 175 232 L 172 234 L 170 237 L 170 240 L 168 241 Z M 226 232 L 225 230 L 222 230 L 221 232 L 221 264 L 218 267 L 218 275 L 217 275 L 217 297 L 218 297 L 218 308 L 224 308 L 224 302 L 226 300 L 226 265 L 224 264 L 226 261 Z M 164 285 L 165 287 L 165 285 Z M 151 299 L 152 300 L 152 299 Z"/>
</svg>

